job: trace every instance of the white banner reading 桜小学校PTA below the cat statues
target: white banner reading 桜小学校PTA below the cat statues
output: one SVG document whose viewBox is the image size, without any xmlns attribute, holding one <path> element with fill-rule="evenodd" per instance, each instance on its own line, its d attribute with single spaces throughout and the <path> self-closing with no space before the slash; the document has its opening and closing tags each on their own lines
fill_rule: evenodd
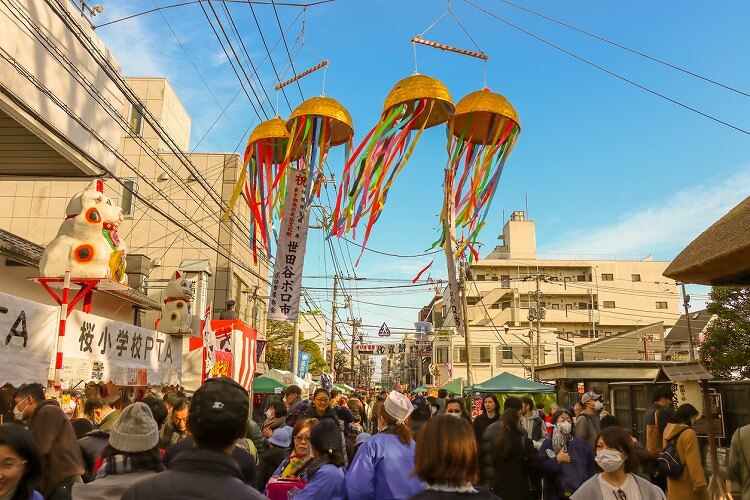
<svg viewBox="0 0 750 500">
<path fill-rule="evenodd" d="M 81 380 L 131 386 L 177 384 L 181 368 L 181 337 L 81 311 L 68 317 L 63 381 L 73 385 Z"/>
</svg>

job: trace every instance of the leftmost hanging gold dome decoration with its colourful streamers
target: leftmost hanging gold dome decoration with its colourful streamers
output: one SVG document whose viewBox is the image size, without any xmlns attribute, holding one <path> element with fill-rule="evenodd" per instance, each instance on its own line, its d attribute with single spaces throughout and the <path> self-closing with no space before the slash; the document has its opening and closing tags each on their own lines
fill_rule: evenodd
<svg viewBox="0 0 750 500">
<path fill-rule="evenodd" d="M 302 155 L 301 149 L 289 149 L 286 121 L 276 116 L 253 129 L 247 141 L 240 178 L 232 193 L 224 217 L 228 217 L 243 191 L 250 206 L 250 244 L 257 262 L 258 248 L 270 254 L 274 221 L 281 218 L 286 192 L 286 167 Z"/>
</svg>

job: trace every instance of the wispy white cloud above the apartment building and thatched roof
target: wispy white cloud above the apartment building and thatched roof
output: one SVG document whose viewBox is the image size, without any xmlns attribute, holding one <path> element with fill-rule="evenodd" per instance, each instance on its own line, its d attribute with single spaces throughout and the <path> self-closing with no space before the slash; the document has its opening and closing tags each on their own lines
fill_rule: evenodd
<svg viewBox="0 0 750 500">
<path fill-rule="evenodd" d="M 750 193 L 750 167 L 724 179 L 665 193 L 663 199 L 624 213 L 607 227 L 583 228 L 562 234 L 544 245 L 540 254 L 660 254 L 676 255 Z M 711 182 L 715 180 L 715 182 Z M 670 258 L 671 258 L 670 257 Z"/>
</svg>

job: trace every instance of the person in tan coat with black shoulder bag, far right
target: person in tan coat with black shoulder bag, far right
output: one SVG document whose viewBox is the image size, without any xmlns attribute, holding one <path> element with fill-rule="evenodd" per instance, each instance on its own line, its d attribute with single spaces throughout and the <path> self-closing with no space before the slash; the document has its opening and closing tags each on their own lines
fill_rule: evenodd
<svg viewBox="0 0 750 500">
<path fill-rule="evenodd" d="M 667 478 L 667 500 L 707 500 L 706 473 L 701 463 L 698 436 L 693 424 L 698 419 L 698 410 L 685 403 L 677 408 L 673 423 L 664 429 L 664 446 L 674 440 L 680 463 L 685 464 L 677 479 Z"/>
</svg>

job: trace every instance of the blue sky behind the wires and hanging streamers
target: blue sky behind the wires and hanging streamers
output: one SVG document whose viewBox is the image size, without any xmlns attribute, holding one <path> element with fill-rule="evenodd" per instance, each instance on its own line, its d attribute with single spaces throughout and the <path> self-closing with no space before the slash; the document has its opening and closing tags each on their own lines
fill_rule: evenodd
<svg viewBox="0 0 750 500">
<path fill-rule="evenodd" d="M 746 47 L 750 18 L 746 2 L 581 2 L 518 0 L 547 16 L 615 40 L 636 50 L 687 68 L 750 93 Z M 104 23 L 166 5 L 165 0 L 103 2 L 96 18 Z M 496 15 L 595 64 L 704 113 L 750 129 L 750 98 L 648 61 L 622 49 L 540 19 L 499 0 L 476 0 Z M 225 26 L 223 8 L 213 2 Z M 271 97 L 276 76 L 246 4 L 227 4 L 261 82 Z M 720 8 L 717 7 L 720 5 Z M 445 1 L 337 0 L 311 7 L 299 16 L 296 7 L 278 7 L 281 25 L 301 71 L 329 59 L 326 95 L 346 106 L 354 119 L 355 142 L 374 125 L 391 87 L 414 71 L 409 39 L 445 12 Z M 281 78 L 291 76 L 286 50 L 270 6 L 254 7 Z M 536 221 L 539 253 L 652 255 L 671 260 L 695 236 L 750 193 L 750 137 L 699 116 L 614 78 L 528 35 L 508 27 L 468 3 L 453 1 L 453 10 L 481 49 L 490 56 L 487 85 L 505 95 L 521 119 L 522 132 L 506 164 L 489 221 L 480 240 L 482 254 L 497 243 L 503 211 L 524 208 Z M 193 118 L 191 147 L 232 151 L 244 147 L 245 130 L 258 123 L 237 77 L 197 4 L 167 9 L 101 27 L 97 33 L 128 76 L 167 76 Z M 295 45 L 305 22 L 305 47 Z M 165 23 L 165 18 L 169 26 Z M 296 21 L 295 18 L 297 18 Z M 178 44 L 173 33 L 182 43 Z M 473 49 L 460 26 L 446 16 L 425 38 Z M 273 48 L 275 46 L 275 48 Z M 202 83 L 185 51 L 198 67 Z M 444 81 L 454 101 L 481 88 L 481 62 L 418 47 L 419 71 Z M 301 82 L 304 96 L 321 92 L 322 73 Z M 217 105 L 214 98 L 215 96 Z M 296 86 L 286 92 L 292 107 L 301 102 Z M 223 107 L 226 117 L 217 121 Z M 285 98 L 279 113 L 288 116 Z M 210 128 L 210 130 L 209 130 Z M 205 135 L 205 139 L 199 143 Z M 390 253 L 418 254 L 435 239 L 441 203 L 445 132 L 425 132 L 412 160 L 389 193 L 385 211 L 368 246 Z M 341 148 L 329 156 L 340 177 Z M 329 188 L 331 199 L 335 192 Z M 328 204 L 323 196 L 323 204 Z M 333 266 L 320 230 L 311 231 L 305 263 L 308 276 L 330 275 Z M 345 273 L 353 272 L 358 250 L 334 241 Z M 361 277 L 411 279 L 431 257 L 390 258 L 365 253 L 356 274 Z M 445 261 L 435 259 L 431 273 L 444 277 Z M 308 279 L 308 286 L 331 286 Z M 350 282 L 358 287 L 387 283 Z M 391 283 L 393 285 L 393 283 Z M 705 294 L 706 288 L 693 288 Z M 365 295 L 353 302 L 353 313 L 366 325 L 387 322 L 412 327 L 416 309 L 429 301 L 428 287 L 400 295 Z M 418 292 L 418 293 L 414 293 Z M 329 293 L 311 292 L 317 305 L 330 310 Z M 380 294 L 384 291 L 378 292 Z M 698 295 L 700 297 L 700 295 Z M 342 319 L 345 319 L 342 315 Z M 376 330 L 376 329 L 375 329 Z M 366 329 L 374 334 L 372 328 Z"/>
</svg>

